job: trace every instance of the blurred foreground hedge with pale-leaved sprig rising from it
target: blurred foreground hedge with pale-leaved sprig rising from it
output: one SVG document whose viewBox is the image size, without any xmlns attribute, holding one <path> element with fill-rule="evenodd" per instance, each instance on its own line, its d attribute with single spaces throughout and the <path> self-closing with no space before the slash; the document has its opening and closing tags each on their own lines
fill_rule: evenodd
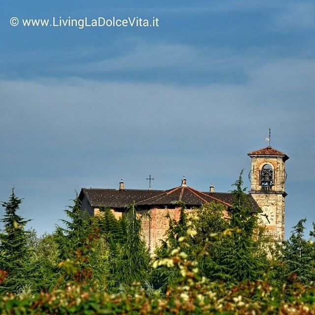
<svg viewBox="0 0 315 315">
<path fill-rule="evenodd" d="M 154 267 L 178 268 L 180 277 L 163 296 L 148 296 L 143 288 L 131 286 L 127 294 L 108 294 L 82 285 L 33 295 L 0 297 L 1 314 L 301 314 L 314 315 L 315 287 L 299 283 L 273 287 L 264 281 L 233 286 L 211 283 L 198 276 L 197 262 L 185 253 L 189 235 L 180 246 Z"/>
</svg>

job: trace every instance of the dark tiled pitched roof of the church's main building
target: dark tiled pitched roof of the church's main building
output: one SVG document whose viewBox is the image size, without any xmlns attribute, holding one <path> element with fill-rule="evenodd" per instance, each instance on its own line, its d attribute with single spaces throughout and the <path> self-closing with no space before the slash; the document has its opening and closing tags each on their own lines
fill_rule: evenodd
<svg viewBox="0 0 315 315">
<path fill-rule="evenodd" d="M 231 207 L 234 196 L 229 192 L 202 192 L 189 186 L 180 186 L 169 190 L 141 190 L 141 189 L 87 189 L 83 188 L 79 198 L 85 194 L 92 207 L 125 208 L 127 204 L 135 201 L 137 206 L 170 206 L 183 201 L 186 206 L 198 207 L 204 203 L 220 202 Z M 252 195 L 248 200 L 254 211 L 259 207 Z"/>
</svg>

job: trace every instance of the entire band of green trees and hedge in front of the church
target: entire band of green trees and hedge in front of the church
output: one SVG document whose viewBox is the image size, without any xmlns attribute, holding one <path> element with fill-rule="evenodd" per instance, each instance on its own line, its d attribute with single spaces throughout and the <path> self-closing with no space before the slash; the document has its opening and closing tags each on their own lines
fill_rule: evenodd
<svg viewBox="0 0 315 315">
<path fill-rule="evenodd" d="M 266 247 L 242 184 L 241 173 L 230 209 L 179 203 L 153 264 L 134 204 L 121 220 L 101 207 L 90 217 L 76 196 L 65 228 L 37 238 L 24 230 L 12 191 L 2 204 L 0 314 L 314 315 L 315 244 L 304 239 L 305 219 L 283 247 Z"/>
</svg>

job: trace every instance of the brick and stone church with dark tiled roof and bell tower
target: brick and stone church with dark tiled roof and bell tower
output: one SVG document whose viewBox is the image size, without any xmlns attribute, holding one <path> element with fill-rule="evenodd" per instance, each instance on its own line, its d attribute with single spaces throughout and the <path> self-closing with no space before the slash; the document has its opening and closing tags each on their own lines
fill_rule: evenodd
<svg viewBox="0 0 315 315">
<path fill-rule="evenodd" d="M 249 174 L 251 190 L 248 200 L 252 210 L 259 212 L 260 223 L 277 242 L 284 240 L 284 189 L 286 180 L 285 161 L 288 157 L 271 146 L 252 151 L 248 154 L 252 158 Z M 151 179 L 151 177 L 150 177 Z M 98 215 L 100 207 L 111 208 L 117 219 L 127 211 L 126 205 L 135 202 L 137 212 L 148 212 L 144 219 L 143 232 L 148 248 L 151 252 L 164 239 L 168 228 L 168 219 L 179 220 L 181 207 L 178 201 L 184 202 L 187 211 L 209 202 L 218 202 L 232 207 L 233 195 L 229 192 L 215 192 L 211 185 L 209 191 L 199 191 L 187 185 L 184 177 L 181 185 L 168 190 L 154 189 L 125 189 L 123 181 L 119 189 L 82 188 L 79 194 L 81 208 L 90 215 Z"/>
</svg>

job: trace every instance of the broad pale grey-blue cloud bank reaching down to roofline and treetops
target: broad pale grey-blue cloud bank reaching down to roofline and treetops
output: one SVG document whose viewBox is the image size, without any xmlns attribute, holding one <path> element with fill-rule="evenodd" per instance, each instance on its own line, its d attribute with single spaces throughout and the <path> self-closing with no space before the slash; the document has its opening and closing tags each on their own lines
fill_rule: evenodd
<svg viewBox="0 0 315 315">
<path fill-rule="evenodd" d="M 169 189 L 185 174 L 196 189 L 227 191 L 243 167 L 246 181 L 246 154 L 266 145 L 271 127 L 272 145 L 290 157 L 293 222 L 292 183 L 314 186 L 314 73 L 312 60 L 286 59 L 251 67 L 242 84 L 2 80 L 0 200 L 15 185 L 31 225 L 47 221 L 37 223 L 43 232 L 74 189 L 116 188 L 121 177 L 145 189 L 152 174 L 155 189 Z"/>
</svg>

